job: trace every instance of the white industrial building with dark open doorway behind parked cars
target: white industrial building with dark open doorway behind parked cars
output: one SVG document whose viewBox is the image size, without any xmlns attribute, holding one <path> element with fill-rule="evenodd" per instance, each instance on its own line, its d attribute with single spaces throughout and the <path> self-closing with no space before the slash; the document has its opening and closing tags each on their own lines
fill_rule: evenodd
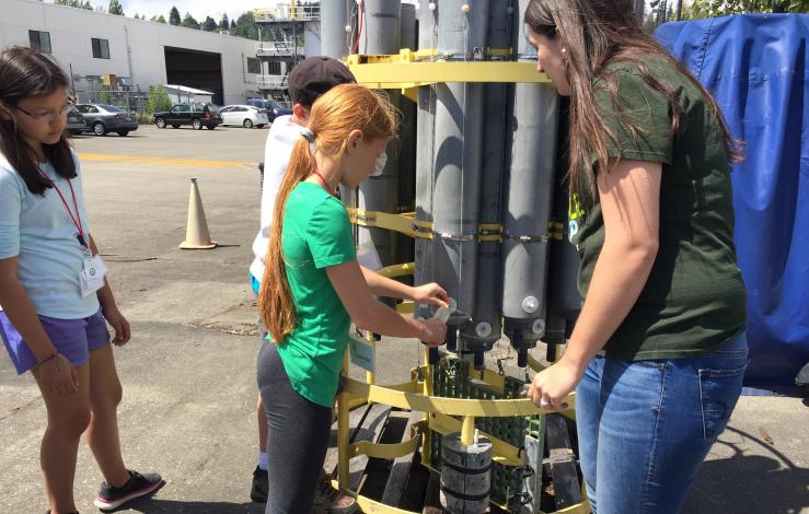
<svg viewBox="0 0 809 514">
<path fill-rule="evenodd" d="M 132 92 L 178 84 L 212 92 L 218 105 L 261 95 L 257 42 L 37 0 L 0 5 L 0 47 L 53 55 L 81 102 L 102 84 Z"/>
</svg>

